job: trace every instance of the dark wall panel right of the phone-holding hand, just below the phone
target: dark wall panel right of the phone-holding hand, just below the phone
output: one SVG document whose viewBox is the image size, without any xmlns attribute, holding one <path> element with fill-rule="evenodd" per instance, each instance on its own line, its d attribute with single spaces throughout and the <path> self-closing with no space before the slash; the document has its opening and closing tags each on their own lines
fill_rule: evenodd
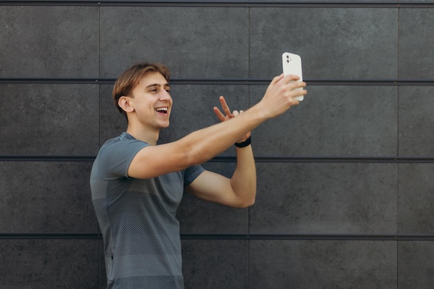
<svg viewBox="0 0 434 289">
<path fill-rule="evenodd" d="M 309 84 L 308 84 L 309 85 Z M 250 88 L 257 103 L 266 87 Z M 257 155 L 397 155 L 397 88 L 310 86 L 297 107 L 253 133 Z"/>
</svg>

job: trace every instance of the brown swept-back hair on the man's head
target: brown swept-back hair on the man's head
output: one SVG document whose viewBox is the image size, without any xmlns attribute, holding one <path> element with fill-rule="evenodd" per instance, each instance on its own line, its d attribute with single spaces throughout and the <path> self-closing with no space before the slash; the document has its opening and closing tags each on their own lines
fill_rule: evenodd
<svg viewBox="0 0 434 289">
<path fill-rule="evenodd" d="M 116 105 L 116 108 L 125 117 L 127 117 L 127 113 L 119 106 L 119 98 L 121 98 L 121 96 L 132 96 L 132 89 L 136 87 L 141 78 L 143 78 L 144 76 L 146 76 L 147 73 L 150 72 L 161 73 L 162 76 L 166 78 L 167 82 L 171 78 L 171 73 L 165 65 L 160 63 L 141 62 L 134 64 L 132 67 L 123 71 L 121 76 L 119 76 L 116 82 L 114 82 L 112 92 L 114 105 Z"/>
</svg>

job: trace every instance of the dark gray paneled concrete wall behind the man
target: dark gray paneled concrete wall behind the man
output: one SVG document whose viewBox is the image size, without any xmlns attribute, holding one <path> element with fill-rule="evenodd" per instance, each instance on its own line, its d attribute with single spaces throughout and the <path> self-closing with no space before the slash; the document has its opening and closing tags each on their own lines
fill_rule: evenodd
<svg viewBox="0 0 434 289">
<path fill-rule="evenodd" d="M 1 289 L 105 288 L 88 179 L 123 69 L 171 68 L 170 141 L 256 103 L 284 51 L 309 96 L 253 132 L 253 207 L 185 196 L 186 288 L 433 288 L 433 1 L 0 4 Z"/>
</svg>

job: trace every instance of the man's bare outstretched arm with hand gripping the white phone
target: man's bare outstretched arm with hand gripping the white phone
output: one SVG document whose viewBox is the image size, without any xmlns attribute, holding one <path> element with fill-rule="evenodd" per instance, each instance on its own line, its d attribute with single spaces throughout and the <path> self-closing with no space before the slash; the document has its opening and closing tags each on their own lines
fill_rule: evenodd
<svg viewBox="0 0 434 289">
<path fill-rule="evenodd" d="M 239 116 L 227 119 L 208 128 L 197 130 L 178 141 L 159 146 L 148 146 L 137 153 L 128 169 L 130 177 L 150 178 L 202 164 L 233 146 L 245 134 L 268 119 L 283 114 L 299 101 L 296 96 L 305 95 L 305 82 L 297 76 L 276 76 L 270 82 L 262 100 Z"/>
</svg>

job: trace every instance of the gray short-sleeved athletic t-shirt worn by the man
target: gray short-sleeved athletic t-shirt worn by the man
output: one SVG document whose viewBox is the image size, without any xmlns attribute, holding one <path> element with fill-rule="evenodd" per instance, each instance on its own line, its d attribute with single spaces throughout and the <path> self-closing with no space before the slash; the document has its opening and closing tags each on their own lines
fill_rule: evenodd
<svg viewBox="0 0 434 289">
<path fill-rule="evenodd" d="M 104 143 L 92 167 L 92 202 L 103 234 L 110 289 L 184 288 L 175 214 L 184 186 L 204 169 L 192 166 L 153 179 L 128 177 L 132 159 L 146 146 L 123 132 Z"/>
</svg>

